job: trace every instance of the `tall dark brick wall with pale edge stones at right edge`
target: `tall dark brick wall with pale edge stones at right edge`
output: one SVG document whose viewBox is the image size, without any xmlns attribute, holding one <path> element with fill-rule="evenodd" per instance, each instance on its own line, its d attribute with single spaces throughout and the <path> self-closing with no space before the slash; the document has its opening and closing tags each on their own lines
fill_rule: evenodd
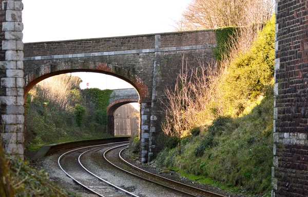
<svg viewBox="0 0 308 197">
<path fill-rule="evenodd" d="M 276 0 L 272 196 L 308 196 L 308 1 Z"/>
</svg>

